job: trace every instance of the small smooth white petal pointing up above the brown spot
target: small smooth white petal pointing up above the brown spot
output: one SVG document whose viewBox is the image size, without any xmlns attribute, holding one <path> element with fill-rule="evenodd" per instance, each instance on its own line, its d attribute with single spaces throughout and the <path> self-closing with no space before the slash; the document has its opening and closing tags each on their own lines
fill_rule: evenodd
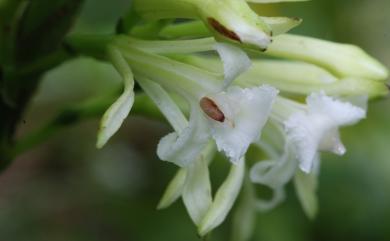
<svg viewBox="0 0 390 241">
<path fill-rule="evenodd" d="M 225 75 L 223 89 L 225 89 L 237 76 L 249 69 L 251 61 L 244 51 L 231 44 L 217 43 L 214 48 L 223 63 Z"/>
</svg>

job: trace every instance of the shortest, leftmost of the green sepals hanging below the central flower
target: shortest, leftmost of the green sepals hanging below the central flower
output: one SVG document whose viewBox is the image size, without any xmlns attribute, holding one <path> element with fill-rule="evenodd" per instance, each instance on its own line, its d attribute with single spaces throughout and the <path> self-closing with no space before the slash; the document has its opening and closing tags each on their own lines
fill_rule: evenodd
<svg viewBox="0 0 390 241">
<path fill-rule="evenodd" d="M 167 189 L 157 205 L 158 210 L 171 206 L 177 199 L 180 198 L 184 189 L 186 177 L 187 170 L 185 168 L 180 168 L 179 171 L 176 172 L 176 175 L 168 184 Z"/>
</svg>

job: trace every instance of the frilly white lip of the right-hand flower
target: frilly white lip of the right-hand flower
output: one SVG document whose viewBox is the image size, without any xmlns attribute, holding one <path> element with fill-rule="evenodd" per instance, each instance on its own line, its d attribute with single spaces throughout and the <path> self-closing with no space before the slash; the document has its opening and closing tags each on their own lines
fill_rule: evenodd
<svg viewBox="0 0 390 241">
<path fill-rule="evenodd" d="M 285 121 L 285 127 L 289 140 L 295 145 L 300 168 L 309 173 L 318 151 L 345 153 L 338 128 L 363 119 L 366 111 L 324 93 L 311 94 L 306 103 L 306 111 L 292 114 Z"/>
</svg>

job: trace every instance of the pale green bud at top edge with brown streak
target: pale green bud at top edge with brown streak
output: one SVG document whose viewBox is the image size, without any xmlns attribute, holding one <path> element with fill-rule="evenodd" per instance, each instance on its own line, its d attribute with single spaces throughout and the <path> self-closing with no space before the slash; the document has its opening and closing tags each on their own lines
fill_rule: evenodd
<svg viewBox="0 0 390 241">
<path fill-rule="evenodd" d="M 135 0 L 147 19 L 201 19 L 217 38 L 266 49 L 272 30 L 244 0 Z"/>
</svg>

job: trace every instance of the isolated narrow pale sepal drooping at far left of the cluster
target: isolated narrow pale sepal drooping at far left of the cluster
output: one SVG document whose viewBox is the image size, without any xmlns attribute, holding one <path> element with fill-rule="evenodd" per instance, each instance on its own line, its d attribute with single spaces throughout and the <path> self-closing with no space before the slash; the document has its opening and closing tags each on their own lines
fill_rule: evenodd
<svg viewBox="0 0 390 241">
<path fill-rule="evenodd" d="M 103 115 L 97 137 L 97 148 L 102 148 L 107 143 L 107 141 L 118 131 L 125 118 L 129 115 L 131 107 L 134 103 L 133 72 L 131 71 L 119 50 L 110 47 L 108 50 L 108 55 L 114 67 L 117 69 L 124 80 L 124 91 Z"/>
</svg>

